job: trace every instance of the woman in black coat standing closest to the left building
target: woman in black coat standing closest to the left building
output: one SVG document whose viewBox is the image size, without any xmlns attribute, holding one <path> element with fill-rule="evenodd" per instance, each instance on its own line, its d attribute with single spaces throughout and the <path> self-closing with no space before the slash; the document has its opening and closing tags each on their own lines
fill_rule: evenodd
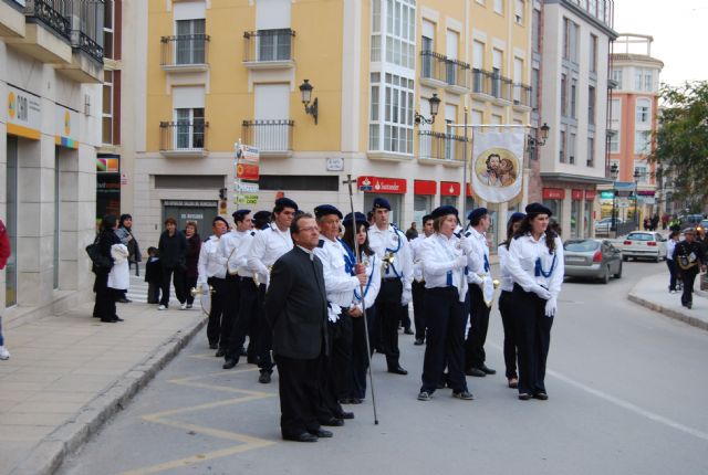
<svg viewBox="0 0 708 475">
<path fill-rule="evenodd" d="M 106 214 L 101 221 L 101 232 L 96 238 L 101 255 L 107 257 L 111 263 L 113 263 L 111 247 L 113 244 L 121 244 L 121 240 L 115 234 L 117 224 L 118 222 L 113 214 Z M 111 267 L 97 267 L 93 265 L 93 272 L 96 274 L 96 279 L 93 284 L 93 292 L 96 293 L 93 316 L 101 318 L 101 321 L 110 324 L 123 321 L 115 313 L 115 300 L 119 295 L 117 292 L 108 288 L 108 273 L 111 272 Z"/>
</svg>

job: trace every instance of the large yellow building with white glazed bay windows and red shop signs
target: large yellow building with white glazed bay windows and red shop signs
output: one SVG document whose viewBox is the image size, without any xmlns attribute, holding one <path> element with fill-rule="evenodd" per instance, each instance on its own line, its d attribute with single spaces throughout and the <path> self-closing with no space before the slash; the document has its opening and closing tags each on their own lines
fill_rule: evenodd
<svg viewBox="0 0 708 475">
<path fill-rule="evenodd" d="M 368 184 L 354 187 L 357 210 L 385 196 L 405 229 L 441 203 L 482 203 L 469 187 L 461 201 L 472 131 L 466 141 L 449 126 L 466 108 L 470 124 L 529 124 L 528 1 L 149 0 L 135 9 L 129 21 L 132 36 L 146 38 L 133 51 L 135 77 L 123 71 L 137 104 L 134 151 L 122 145 L 134 197 L 123 211 L 145 243 L 169 215 L 204 230 L 236 209 L 238 140 L 260 149 L 259 201 L 249 208 L 271 209 L 285 194 L 305 210 L 346 211 L 351 175 Z M 497 223 L 524 203 L 525 194 L 489 204 L 493 241 Z"/>
</svg>

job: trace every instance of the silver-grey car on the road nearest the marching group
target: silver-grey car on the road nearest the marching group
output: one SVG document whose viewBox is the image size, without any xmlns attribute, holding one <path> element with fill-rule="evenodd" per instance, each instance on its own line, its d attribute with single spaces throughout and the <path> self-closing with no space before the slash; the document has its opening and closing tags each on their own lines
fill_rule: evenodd
<svg viewBox="0 0 708 475">
<path fill-rule="evenodd" d="M 604 284 L 622 277 L 622 251 L 607 240 L 568 240 L 563 256 L 566 277 L 598 278 Z"/>
</svg>

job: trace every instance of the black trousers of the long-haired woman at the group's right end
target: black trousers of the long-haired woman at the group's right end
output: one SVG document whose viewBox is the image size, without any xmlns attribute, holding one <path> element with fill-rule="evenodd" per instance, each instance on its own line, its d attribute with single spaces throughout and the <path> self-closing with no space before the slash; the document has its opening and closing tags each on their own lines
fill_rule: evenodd
<svg viewBox="0 0 708 475">
<path fill-rule="evenodd" d="M 545 391 L 545 362 L 551 345 L 553 317 L 546 317 L 545 300 L 514 284 L 511 294 L 514 337 L 519 345 L 519 393 Z"/>
</svg>

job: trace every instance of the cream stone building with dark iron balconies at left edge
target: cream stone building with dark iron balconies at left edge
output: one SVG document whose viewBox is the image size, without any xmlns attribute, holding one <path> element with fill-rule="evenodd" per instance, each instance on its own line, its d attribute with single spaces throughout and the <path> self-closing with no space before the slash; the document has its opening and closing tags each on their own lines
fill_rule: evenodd
<svg viewBox="0 0 708 475">
<path fill-rule="evenodd" d="M 9 319 L 85 299 L 93 274 L 103 2 L 0 0 L 0 273 Z"/>
</svg>

